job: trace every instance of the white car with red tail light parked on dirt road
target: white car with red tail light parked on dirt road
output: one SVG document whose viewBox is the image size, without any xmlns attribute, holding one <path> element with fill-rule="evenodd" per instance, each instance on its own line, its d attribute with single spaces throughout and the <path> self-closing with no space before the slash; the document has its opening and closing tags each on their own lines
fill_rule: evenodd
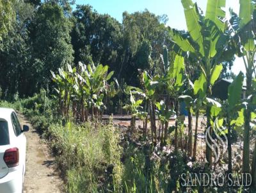
<svg viewBox="0 0 256 193">
<path fill-rule="evenodd" d="M 0 193 L 21 193 L 26 171 L 26 137 L 13 109 L 0 108 Z"/>
</svg>

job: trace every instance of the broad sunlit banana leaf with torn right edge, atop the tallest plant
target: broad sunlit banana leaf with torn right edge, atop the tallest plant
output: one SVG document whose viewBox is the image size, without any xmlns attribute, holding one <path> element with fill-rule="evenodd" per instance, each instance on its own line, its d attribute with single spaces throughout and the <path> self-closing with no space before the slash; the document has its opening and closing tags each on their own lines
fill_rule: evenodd
<svg viewBox="0 0 256 193">
<path fill-rule="evenodd" d="M 225 4 L 225 0 L 208 0 L 205 13 L 205 19 L 212 20 L 221 31 L 224 31 L 225 28 L 223 19 L 225 18 L 226 13 L 221 9 L 225 7 Z"/>
</svg>

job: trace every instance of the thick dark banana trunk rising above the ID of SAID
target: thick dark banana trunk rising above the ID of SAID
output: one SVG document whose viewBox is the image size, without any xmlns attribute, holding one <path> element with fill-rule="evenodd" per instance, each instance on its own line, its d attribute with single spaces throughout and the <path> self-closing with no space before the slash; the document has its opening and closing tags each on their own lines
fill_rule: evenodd
<svg viewBox="0 0 256 193">
<path fill-rule="evenodd" d="M 246 73 L 246 96 L 252 95 L 252 75 Z M 250 173 L 250 121 L 251 102 L 244 110 L 244 146 L 243 146 L 243 173 Z"/>
</svg>

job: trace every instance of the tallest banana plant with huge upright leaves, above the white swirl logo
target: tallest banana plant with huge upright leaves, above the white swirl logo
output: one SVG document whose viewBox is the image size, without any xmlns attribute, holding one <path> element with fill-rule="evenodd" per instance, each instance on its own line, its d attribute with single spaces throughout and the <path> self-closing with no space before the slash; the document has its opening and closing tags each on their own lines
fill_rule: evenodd
<svg viewBox="0 0 256 193">
<path fill-rule="evenodd" d="M 211 88 L 220 76 L 223 54 L 228 48 L 230 34 L 227 25 L 223 22 L 225 12 L 225 0 L 207 1 L 205 16 L 200 14 L 198 6 L 191 0 L 182 0 L 188 33 L 180 33 L 170 29 L 173 40 L 173 49 L 179 54 L 192 57 L 200 66 L 201 75 L 195 82 L 195 94 L 199 89 L 204 90 L 202 96 L 211 98 Z M 203 84 L 205 82 L 205 84 Z M 210 112 L 211 106 L 207 105 L 207 127 L 211 126 Z M 207 146 L 206 157 L 209 165 L 212 164 L 212 151 Z"/>
</svg>

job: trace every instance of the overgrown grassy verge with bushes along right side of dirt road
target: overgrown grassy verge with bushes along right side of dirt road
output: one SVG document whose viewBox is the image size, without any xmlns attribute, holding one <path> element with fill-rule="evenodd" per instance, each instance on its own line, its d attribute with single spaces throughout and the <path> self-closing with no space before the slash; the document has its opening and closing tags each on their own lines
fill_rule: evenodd
<svg viewBox="0 0 256 193">
<path fill-rule="evenodd" d="M 120 192 L 123 166 L 120 134 L 112 123 L 67 121 L 57 116 L 54 102 L 40 93 L 13 103 L 1 101 L 29 118 L 51 147 L 67 192 Z"/>
</svg>

